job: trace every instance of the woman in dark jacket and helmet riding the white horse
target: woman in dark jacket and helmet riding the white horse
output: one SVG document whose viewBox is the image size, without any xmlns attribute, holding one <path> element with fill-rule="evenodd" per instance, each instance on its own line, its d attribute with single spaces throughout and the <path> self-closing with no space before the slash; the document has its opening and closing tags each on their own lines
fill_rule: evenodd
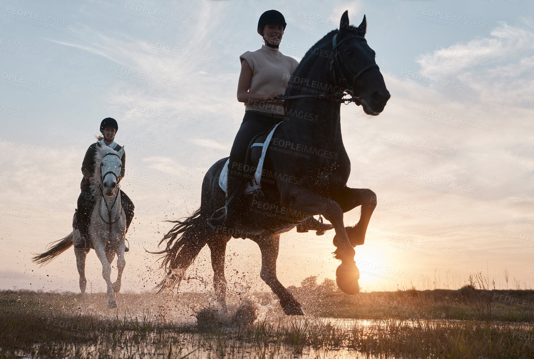
<svg viewBox="0 0 534 359">
<path fill-rule="evenodd" d="M 95 154 L 99 147 L 111 147 L 115 152 L 120 151 L 122 146 L 117 144 L 115 139 L 115 133 L 119 131 L 119 125 L 117 121 L 111 117 L 107 117 L 102 120 L 100 123 L 100 133 L 102 134 L 97 138 L 98 142 L 95 142 L 89 146 L 85 152 L 85 157 L 83 158 L 82 163 L 82 182 L 80 184 L 82 192 L 78 196 L 78 208 L 76 209 L 76 220 L 75 228 L 80 231 L 80 237 L 73 238 L 74 248 L 90 248 L 89 243 L 89 224 L 91 221 L 91 213 L 93 207 L 95 206 L 95 195 L 92 192 L 92 184 L 97 183 L 100 179 L 93 178 L 92 175 L 95 173 Z M 124 170 L 126 166 L 126 154 L 124 153 L 121 157 L 122 167 L 121 175 L 119 176 L 119 181 L 124 177 Z M 128 232 L 128 227 L 133 219 L 133 203 L 130 198 L 121 191 L 121 205 L 126 216 L 126 231 Z M 126 247 L 124 251 L 128 251 L 129 248 Z"/>
</svg>

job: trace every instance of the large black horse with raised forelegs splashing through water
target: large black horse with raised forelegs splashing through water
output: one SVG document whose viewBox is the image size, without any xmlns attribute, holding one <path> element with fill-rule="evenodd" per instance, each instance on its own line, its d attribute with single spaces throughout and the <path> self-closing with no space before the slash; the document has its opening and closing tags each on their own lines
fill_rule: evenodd
<svg viewBox="0 0 534 359">
<path fill-rule="evenodd" d="M 286 314 L 302 315 L 299 302 L 276 276 L 280 234 L 310 216 L 323 215 L 336 233 L 334 254 L 341 259 L 336 270 L 337 285 L 345 293 L 358 293 L 354 247 L 364 243 L 376 196 L 370 189 L 347 187 L 350 160 L 341 138 L 340 104 L 355 102 L 365 113 L 375 116 L 390 97 L 365 32 L 365 16 L 356 27 L 349 25 L 345 11 L 340 29 L 313 45 L 292 78 L 287 79 L 283 97 L 286 117 L 271 139 L 263 167 L 265 177 L 271 180 L 262 181 L 262 189 L 255 195 L 242 196 L 239 220 L 233 228 L 214 231 L 206 224 L 206 219 L 225 204 L 219 174 L 226 158 L 211 166 L 202 182 L 200 208 L 185 220 L 171 221 L 176 225 L 159 243 L 167 241 L 166 249 L 157 252 L 164 254 L 161 266 L 167 270 L 167 277 L 156 287 L 160 292 L 179 286 L 183 273 L 207 244 L 214 287 L 226 308 L 224 258 L 226 243 L 233 235 L 250 238 L 260 246 L 261 278 L 278 295 Z M 344 100 L 345 93 L 352 97 Z M 358 224 L 345 227 L 343 213 L 359 205 L 362 212 Z"/>
</svg>

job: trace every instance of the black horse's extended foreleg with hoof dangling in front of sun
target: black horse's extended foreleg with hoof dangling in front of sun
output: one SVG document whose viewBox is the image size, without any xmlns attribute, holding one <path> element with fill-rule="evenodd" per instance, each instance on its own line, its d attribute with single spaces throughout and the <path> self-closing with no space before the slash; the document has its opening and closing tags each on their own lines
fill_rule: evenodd
<svg viewBox="0 0 534 359">
<path fill-rule="evenodd" d="M 335 258 L 341 259 L 341 264 L 336 270 L 337 286 L 347 294 L 358 293 L 360 272 L 354 261 L 356 252 L 345 231 L 343 210 L 340 205 L 330 198 L 320 196 L 305 188 L 293 187 L 290 190 L 288 207 L 289 216 L 295 216 L 295 213 L 300 213 L 303 218 L 304 216 L 323 215 L 332 223 L 335 235 L 339 238 L 337 249 L 334 251 Z"/>
</svg>

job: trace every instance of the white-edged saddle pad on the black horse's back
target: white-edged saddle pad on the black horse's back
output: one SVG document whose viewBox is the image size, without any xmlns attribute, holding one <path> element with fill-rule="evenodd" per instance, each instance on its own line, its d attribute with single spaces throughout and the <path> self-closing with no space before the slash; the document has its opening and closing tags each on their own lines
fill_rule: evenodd
<svg viewBox="0 0 534 359">
<path fill-rule="evenodd" d="M 262 172 L 263 164 L 265 161 L 265 154 L 267 153 L 267 149 L 269 148 L 269 144 L 271 143 L 274 131 L 276 131 L 280 123 L 256 135 L 252 139 L 252 141 L 250 141 L 250 144 L 247 149 L 247 159 L 245 161 L 245 166 L 250 167 L 250 172 L 254 172 L 254 177 L 250 179 L 245 185 L 245 189 L 243 190 L 244 194 L 255 194 L 259 192 L 262 188 Z M 221 187 L 221 189 L 226 194 L 228 194 L 226 190 L 226 180 L 228 177 L 229 163 L 230 158 L 227 159 L 224 163 L 221 174 L 219 175 L 219 187 Z"/>
</svg>

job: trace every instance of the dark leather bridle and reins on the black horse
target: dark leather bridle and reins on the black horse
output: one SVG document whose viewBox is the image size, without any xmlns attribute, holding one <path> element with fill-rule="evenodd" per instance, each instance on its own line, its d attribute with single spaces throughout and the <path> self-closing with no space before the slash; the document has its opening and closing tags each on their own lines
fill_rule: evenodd
<svg viewBox="0 0 534 359">
<path fill-rule="evenodd" d="M 330 71 L 332 72 L 333 76 L 334 76 L 334 81 L 336 81 L 336 70 L 339 72 L 340 74 L 340 82 L 344 82 L 344 83 L 347 83 L 347 76 L 345 76 L 345 74 L 343 73 L 343 70 L 342 70 L 342 67 L 341 65 L 343 64 L 343 58 L 341 57 L 341 52 L 339 50 L 339 47 L 340 45 L 347 41 L 347 40 L 351 40 L 351 39 L 359 39 L 359 40 L 364 40 L 365 42 L 367 42 L 367 40 L 365 39 L 364 36 L 360 36 L 360 35 L 350 35 L 350 36 L 347 36 L 345 37 L 343 40 L 341 41 L 337 41 L 337 35 L 339 35 L 339 33 L 336 33 L 334 35 L 334 37 L 332 37 L 332 46 L 333 46 L 333 51 L 334 51 L 334 58 L 332 59 L 332 61 L 330 62 Z M 366 72 L 367 70 L 370 70 L 371 68 L 379 68 L 378 65 L 376 64 L 369 64 L 367 66 L 364 66 L 362 69 L 360 69 L 360 71 L 358 71 L 354 77 L 352 78 L 352 82 L 356 82 L 356 80 L 364 73 Z M 337 81 L 336 81 L 337 82 Z M 345 94 L 348 94 L 350 95 L 350 98 L 349 97 L 344 97 Z M 320 95 L 293 95 L 293 96 L 280 96 L 280 97 L 277 97 L 276 98 L 276 101 L 279 101 L 279 100 L 292 100 L 293 98 L 319 98 L 319 100 L 329 100 L 329 101 L 335 101 L 335 102 L 343 102 L 345 105 L 351 103 L 351 102 L 355 102 L 355 101 L 358 101 L 358 100 L 362 100 L 361 97 L 358 97 L 358 96 L 354 96 L 354 93 L 353 93 L 353 89 L 345 89 L 343 90 L 342 93 L 335 93 L 335 94 L 330 94 L 330 95 L 323 95 L 323 94 L 320 94 Z"/>
</svg>

